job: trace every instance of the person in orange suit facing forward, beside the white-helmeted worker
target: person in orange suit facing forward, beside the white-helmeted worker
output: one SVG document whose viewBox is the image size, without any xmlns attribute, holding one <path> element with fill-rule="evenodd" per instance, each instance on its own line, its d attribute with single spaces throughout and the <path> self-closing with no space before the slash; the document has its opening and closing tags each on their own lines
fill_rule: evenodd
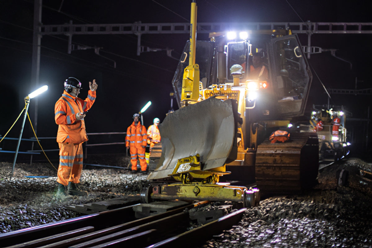
<svg viewBox="0 0 372 248">
<path fill-rule="evenodd" d="M 126 130 L 125 146 L 129 147 L 131 153 L 132 171 L 137 173 L 137 156 L 140 160 L 142 174 L 147 174 L 147 162 L 145 159 L 147 145 L 146 127 L 141 125 L 140 115 L 133 115 L 133 123 Z"/>
</svg>

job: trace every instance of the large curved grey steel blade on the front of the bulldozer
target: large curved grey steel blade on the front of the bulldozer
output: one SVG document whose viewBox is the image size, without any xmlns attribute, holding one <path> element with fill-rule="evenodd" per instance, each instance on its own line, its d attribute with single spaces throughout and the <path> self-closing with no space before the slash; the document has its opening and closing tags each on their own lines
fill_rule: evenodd
<svg viewBox="0 0 372 248">
<path fill-rule="evenodd" d="M 237 101 L 211 97 L 166 116 L 159 125 L 161 157 L 148 180 L 167 178 L 180 158 L 200 155 L 202 170 L 237 157 Z"/>
</svg>

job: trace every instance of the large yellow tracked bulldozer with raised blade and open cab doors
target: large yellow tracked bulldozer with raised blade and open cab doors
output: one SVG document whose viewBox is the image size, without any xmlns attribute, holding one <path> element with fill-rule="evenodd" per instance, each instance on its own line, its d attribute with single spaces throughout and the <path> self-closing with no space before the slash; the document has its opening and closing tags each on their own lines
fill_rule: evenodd
<svg viewBox="0 0 372 248">
<path fill-rule="evenodd" d="M 179 110 L 160 123 L 161 157 L 148 175 L 144 202 L 213 200 L 256 206 L 260 193 L 298 193 L 318 174 L 318 138 L 288 131 L 304 114 L 311 71 L 290 30 L 210 33 L 190 41 L 172 81 Z M 249 39 L 249 40 L 248 40 Z"/>
</svg>

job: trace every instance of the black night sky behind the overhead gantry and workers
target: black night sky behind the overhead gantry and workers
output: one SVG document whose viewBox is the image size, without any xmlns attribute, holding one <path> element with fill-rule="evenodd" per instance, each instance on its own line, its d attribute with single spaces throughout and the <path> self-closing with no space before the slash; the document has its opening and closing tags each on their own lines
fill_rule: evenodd
<svg viewBox="0 0 372 248">
<path fill-rule="evenodd" d="M 198 22 L 372 22 L 369 11 L 371 1 L 212 1 L 198 0 Z M 43 1 L 42 23 L 188 23 L 191 1 L 174 0 L 58 0 Z M 23 98 L 35 90 L 31 82 L 33 1 L 0 1 L 0 134 L 5 135 L 24 106 Z M 141 45 L 151 48 L 174 49 L 172 56 L 179 58 L 188 34 L 142 35 Z M 307 45 L 307 35 L 299 35 L 302 45 Z M 93 49 L 76 50 L 67 54 L 67 36 L 45 35 L 41 39 L 40 86 L 47 84 L 46 93 L 32 99 L 29 115 L 35 125 L 35 106 L 38 106 L 37 134 L 54 137 L 54 104 L 63 92 L 67 77 L 77 77 L 83 83 L 80 98 L 87 96 L 89 81 L 96 79 L 97 100 L 85 118 L 87 132 L 125 132 L 132 123 L 132 115 L 140 111 L 149 100 L 152 105 L 144 113 L 144 125 L 152 124 L 154 117 L 162 121 L 170 110 L 169 93 L 173 91 L 171 80 L 177 61 L 167 57 L 166 51 L 146 52 L 137 56 L 135 35 L 74 35 L 73 44 L 100 47 L 100 55 Z M 198 40 L 208 39 L 198 34 Z M 327 104 L 327 88 L 371 88 L 372 34 L 315 34 L 312 46 L 338 49 L 337 57 L 330 52 L 311 55 L 309 63 L 314 68 L 314 80 L 307 104 L 305 119 L 310 118 L 312 104 Z M 116 68 L 113 67 L 114 60 Z M 317 78 L 315 73 L 319 76 Z M 356 79 L 357 78 L 357 79 Z M 330 104 L 343 105 L 352 116 L 371 116 L 371 95 L 331 95 Z M 176 108 L 177 104 L 173 104 Z M 7 137 L 18 138 L 21 116 Z M 363 121 L 350 121 L 346 128 L 350 133 L 355 154 L 368 155 L 366 136 L 371 140 L 371 125 Z M 32 137 L 31 126 L 25 124 L 23 138 Z M 115 140 L 116 139 L 116 140 Z M 94 142 L 124 141 L 124 136 L 90 136 Z M 14 151 L 16 142 L 3 141 L 0 147 Z M 371 143 L 371 142 L 369 142 Z M 44 140 L 44 149 L 57 149 L 55 139 Z M 370 147 L 370 146 L 369 146 Z M 30 142 L 22 142 L 20 151 L 31 148 Z M 35 149 L 39 149 L 37 146 Z M 103 149 L 102 147 L 100 149 Z M 94 152 L 116 152 L 124 149 L 105 146 Z M 22 155 L 21 155 L 22 156 Z M 6 158 L 0 153 L 0 160 Z"/>
</svg>

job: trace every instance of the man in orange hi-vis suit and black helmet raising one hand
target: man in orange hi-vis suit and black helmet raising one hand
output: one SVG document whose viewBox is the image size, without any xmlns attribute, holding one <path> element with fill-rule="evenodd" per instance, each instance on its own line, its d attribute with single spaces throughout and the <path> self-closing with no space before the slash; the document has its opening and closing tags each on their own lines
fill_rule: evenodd
<svg viewBox="0 0 372 248">
<path fill-rule="evenodd" d="M 62 96 L 55 103 L 54 119 L 58 124 L 57 142 L 60 147 L 60 164 L 57 172 L 57 199 L 71 196 L 87 196 L 87 191 L 78 189 L 83 168 L 83 142 L 88 140 L 84 117 L 96 100 L 96 80 L 89 82 L 88 97 L 78 98 L 81 83 L 69 77 L 64 82 Z M 67 186 L 67 187 L 66 187 Z M 66 191 L 67 189 L 67 191 Z"/>
</svg>

